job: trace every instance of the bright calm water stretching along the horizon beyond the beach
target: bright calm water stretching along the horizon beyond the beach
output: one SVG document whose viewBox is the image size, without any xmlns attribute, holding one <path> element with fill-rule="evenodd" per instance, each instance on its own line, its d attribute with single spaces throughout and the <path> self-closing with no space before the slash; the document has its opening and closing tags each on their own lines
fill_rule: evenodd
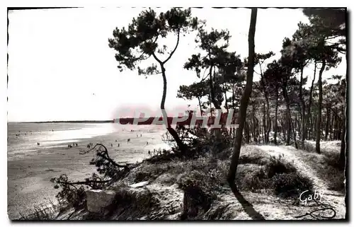
<svg viewBox="0 0 354 227">
<path fill-rule="evenodd" d="M 162 132 L 161 126 L 119 125 L 112 123 L 8 123 L 8 161 L 18 158 L 23 153 L 40 149 L 63 146 L 104 136 L 114 132 Z M 40 146 L 37 145 L 40 143 Z"/>
</svg>

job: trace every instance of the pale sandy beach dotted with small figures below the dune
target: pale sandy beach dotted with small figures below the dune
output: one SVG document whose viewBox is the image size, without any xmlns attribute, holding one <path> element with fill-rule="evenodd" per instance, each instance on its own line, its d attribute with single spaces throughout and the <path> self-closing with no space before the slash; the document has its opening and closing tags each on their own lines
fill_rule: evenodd
<svg viewBox="0 0 354 227">
<path fill-rule="evenodd" d="M 9 219 L 18 219 L 21 215 L 30 214 L 34 206 L 50 205 L 50 201 L 56 203 L 55 195 L 59 190 L 53 188 L 51 177 L 66 173 L 73 180 L 83 180 L 95 172 L 94 166 L 89 165 L 94 153 L 79 154 L 79 151 L 87 149 L 89 142 L 107 146 L 110 156 L 119 163 L 142 161 L 147 158 L 149 150 L 169 147 L 161 139 L 164 130 L 135 127 L 137 128 L 134 132 L 130 131 L 131 127 L 125 127 L 84 139 L 67 136 L 66 141 L 57 143 L 45 143 L 44 139 L 38 149 L 8 151 Z M 129 143 L 127 139 L 130 139 Z M 78 146 L 69 149 L 67 144 L 73 142 Z M 11 142 L 8 144 L 11 146 Z"/>
</svg>

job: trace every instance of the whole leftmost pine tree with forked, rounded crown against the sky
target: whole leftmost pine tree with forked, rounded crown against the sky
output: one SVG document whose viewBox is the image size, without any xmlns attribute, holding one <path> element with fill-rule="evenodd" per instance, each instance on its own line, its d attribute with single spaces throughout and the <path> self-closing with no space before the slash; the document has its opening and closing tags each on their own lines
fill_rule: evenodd
<svg viewBox="0 0 354 227">
<path fill-rule="evenodd" d="M 115 59 L 120 63 L 118 68 L 135 69 L 135 66 L 144 60 L 153 57 L 157 64 L 152 64 L 146 69 L 141 69 L 138 66 L 139 74 L 152 75 L 161 74 L 164 79 L 164 92 L 161 98 L 161 112 L 166 122 L 166 128 L 176 141 L 181 153 L 185 153 L 186 146 L 179 138 L 175 129 L 167 121 L 167 113 L 165 110 L 167 79 L 166 79 L 166 62 L 171 59 L 179 44 L 182 33 L 188 33 L 190 30 L 195 30 L 198 26 L 198 19 L 191 17 L 190 8 L 182 10 L 181 8 L 171 8 L 166 13 L 156 14 L 154 10 L 149 8 L 147 11 L 132 19 L 125 29 L 115 28 L 113 31 L 113 39 L 109 39 L 109 47 L 116 50 Z M 165 60 L 161 60 L 158 54 L 166 54 L 167 47 L 164 45 L 159 48 L 159 38 L 164 38 L 167 35 L 175 34 L 177 36 L 176 45 L 167 54 Z"/>
</svg>

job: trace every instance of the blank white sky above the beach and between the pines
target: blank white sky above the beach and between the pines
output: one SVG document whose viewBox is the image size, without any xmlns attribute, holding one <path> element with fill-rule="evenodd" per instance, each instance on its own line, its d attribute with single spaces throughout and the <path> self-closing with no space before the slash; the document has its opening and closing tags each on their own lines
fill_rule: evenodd
<svg viewBox="0 0 354 227">
<path fill-rule="evenodd" d="M 125 7 L 9 11 L 8 121 L 110 120 L 123 112 L 132 116 L 139 108 L 159 110 L 161 75 L 145 78 L 137 71 L 120 72 L 115 51 L 108 47 L 113 30 L 127 27 L 142 10 Z M 192 8 L 192 15 L 205 20 L 209 29 L 229 30 L 229 51 L 240 54 L 241 59 L 247 57 L 250 9 Z M 256 52 L 273 51 L 273 59 L 278 59 L 282 40 L 292 36 L 299 21 L 308 22 L 301 9 L 258 9 Z M 198 53 L 194 40 L 195 34 L 181 37 L 175 54 L 166 63 L 167 112 L 198 105 L 197 100 L 176 98 L 179 86 L 198 79 L 195 72 L 183 69 L 188 57 Z M 172 48 L 176 37 L 169 36 L 164 43 Z M 337 69 L 325 71 L 324 79 L 346 74 L 346 59 L 341 57 L 342 63 Z M 304 75 L 311 81 L 313 66 L 306 68 Z"/>
</svg>

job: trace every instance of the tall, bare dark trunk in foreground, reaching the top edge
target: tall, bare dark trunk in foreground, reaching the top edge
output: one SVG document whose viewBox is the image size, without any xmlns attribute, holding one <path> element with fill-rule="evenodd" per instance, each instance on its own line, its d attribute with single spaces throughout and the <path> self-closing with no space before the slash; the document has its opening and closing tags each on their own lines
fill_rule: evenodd
<svg viewBox="0 0 354 227">
<path fill-rule="evenodd" d="M 241 150 L 241 140 L 242 140 L 242 131 L 244 129 L 244 122 L 246 120 L 246 111 L 247 105 L 249 105 L 249 97 L 252 93 L 252 84 L 253 84 L 253 66 L 254 66 L 254 35 L 256 33 L 256 19 L 257 19 L 257 8 L 251 9 L 251 23 L 249 25 L 249 65 L 247 67 L 247 80 L 246 88 L 244 94 L 241 98 L 241 106 L 239 110 L 239 127 L 237 128 L 236 138 L 234 141 L 234 153 L 232 154 L 232 160 L 229 168 L 229 174 L 227 176 L 227 181 L 234 193 L 237 191 L 235 185 L 235 177 L 237 164 L 239 163 L 239 156 Z"/>
</svg>

